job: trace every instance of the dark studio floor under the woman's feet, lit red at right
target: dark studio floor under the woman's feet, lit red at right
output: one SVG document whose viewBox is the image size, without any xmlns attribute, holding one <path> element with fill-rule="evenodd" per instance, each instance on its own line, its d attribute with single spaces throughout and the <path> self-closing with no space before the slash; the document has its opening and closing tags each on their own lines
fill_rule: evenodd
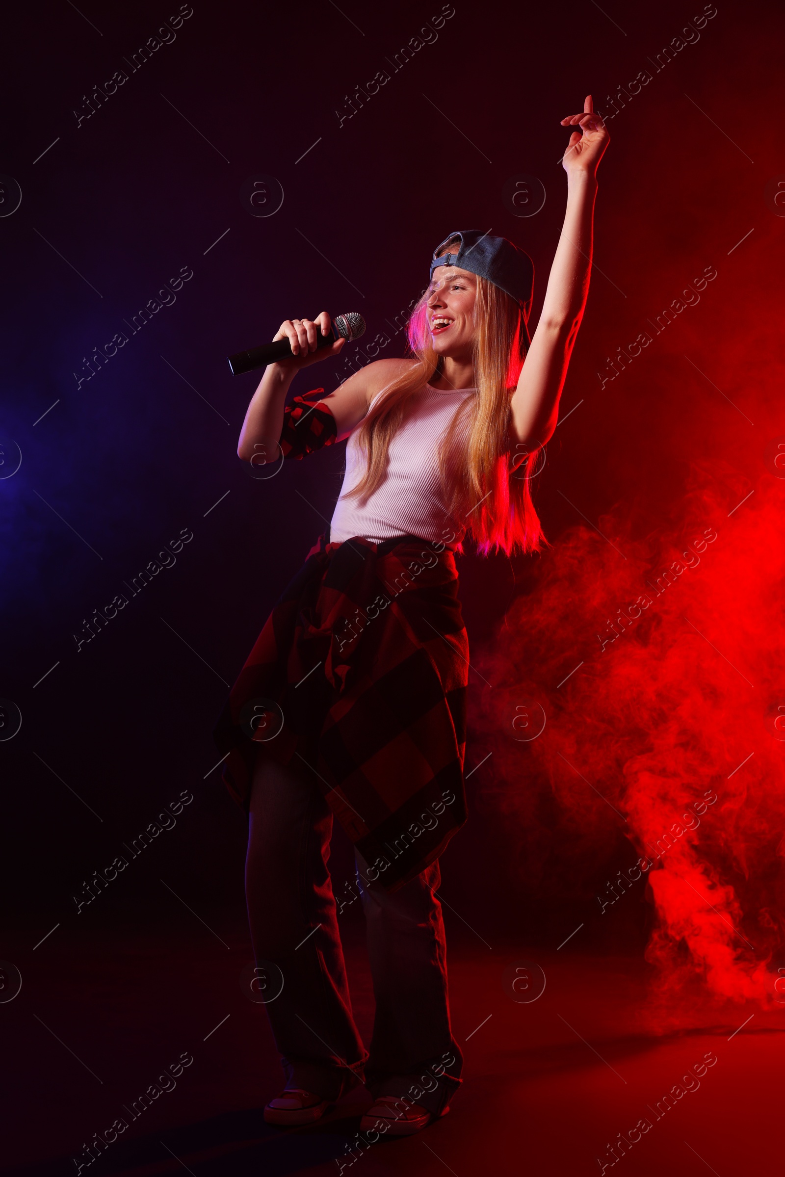
<svg viewBox="0 0 785 1177">
<path fill-rule="evenodd" d="M 359 1089 L 317 1125 L 268 1128 L 260 1109 L 280 1073 L 264 1006 L 240 990 L 247 937 L 218 917 L 212 932 L 195 919 L 194 927 L 81 942 L 54 932 L 34 957 L 27 938 L 7 943 L 4 955 L 24 977 L 19 996 L 0 1004 L 7 1172 L 572 1177 L 601 1172 L 601 1158 L 606 1172 L 621 1164 L 627 1177 L 751 1177 L 779 1163 L 785 1008 L 719 1008 L 705 996 L 663 1005 L 638 959 L 488 947 L 466 929 L 451 936 L 453 1025 L 465 1053 L 451 1113 L 419 1136 L 360 1148 L 368 1097 Z M 362 924 L 351 918 L 342 929 L 367 1035 Z M 505 970 L 524 960 L 546 977 L 533 1002 L 512 999 L 510 975 L 505 985 Z M 182 1052 L 193 1063 L 174 1090 L 131 1122 L 124 1106 Z M 707 1052 L 717 1062 L 670 1110 L 658 1109 Z M 129 1129 L 88 1165 L 84 1145 L 115 1117 Z M 652 1125 L 643 1136 L 641 1118 Z M 631 1130 L 634 1143 L 611 1165 L 608 1143 Z"/>
</svg>

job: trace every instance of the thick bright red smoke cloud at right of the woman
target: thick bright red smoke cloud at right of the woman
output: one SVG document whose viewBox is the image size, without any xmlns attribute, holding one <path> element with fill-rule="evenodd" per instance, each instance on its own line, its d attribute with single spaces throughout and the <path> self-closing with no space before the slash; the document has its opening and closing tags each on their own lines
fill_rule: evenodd
<svg viewBox="0 0 785 1177">
<path fill-rule="evenodd" d="M 537 588 L 514 601 L 483 666 L 494 684 L 485 722 L 503 732 L 493 740 L 495 787 L 530 839 L 524 853 L 537 851 L 539 767 L 584 867 L 619 829 L 634 849 L 618 866 L 626 872 L 637 857 L 651 864 L 643 867 L 656 909 L 646 956 L 665 990 L 699 980 L 718 997 L 774 1009 L 784 500 L 773 466 L 754 487 L 730 467 L 714 465 L 711 476 L 693 467 L 667 528 L 636 538 L 640 524 L 627 507 L 598 520 L 607 541 L 576 527 L 540 558 Z M 520 724 L 512 729 L 518 696 L 547 717 L 525 745 L 514 739 Z"/>
</svg>

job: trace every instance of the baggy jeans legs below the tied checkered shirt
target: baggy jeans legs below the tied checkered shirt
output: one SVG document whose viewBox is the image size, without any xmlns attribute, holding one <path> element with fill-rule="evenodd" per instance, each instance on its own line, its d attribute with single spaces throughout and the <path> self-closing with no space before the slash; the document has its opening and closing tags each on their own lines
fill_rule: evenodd
<svg viewBox="0 0 785 1177">
<path fill-rule="evenodd" d="M 374 1098 L 404 1097 L 438 1115 L 460 1085 L 463 1065 L 450 1026 L 439 864 L 390 895 L 367 880 L 355 851 L 375 997 L 366 1051 L 352 1016 L 327 867 L 332 823 L 315 773 L 301 758 L 295 754 L 286 767 L 258 758 L 246 897 L 287 1086 L 332 1102 L 365 1082 Z"/>
</svg>

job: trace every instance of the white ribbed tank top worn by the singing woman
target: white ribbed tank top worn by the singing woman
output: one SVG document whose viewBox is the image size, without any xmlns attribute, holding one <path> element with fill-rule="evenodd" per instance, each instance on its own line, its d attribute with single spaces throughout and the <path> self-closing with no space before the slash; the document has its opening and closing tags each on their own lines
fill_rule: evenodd
<svg viewBox="0 0 785 1177">
<path fill-rule="evenodd" d="M 387 476 L 368 500 L 347 499 L 365 470 L 358 443 L 359 424 L 346 443 L 346 472 L 330 524 L 338 543 L 359 536 L 375 544 L 393 536 L 417 536 L 455 547 L 465 526 L 446 511 L 439 479 L 439 444 L 459 406 L 474 388 L 432 388 L 426 384 L 390 443 Z M 468 411 L 466 411 L 468 417 Z M 361 423 L 360 423 L 361 424 Z"/>
</svg>

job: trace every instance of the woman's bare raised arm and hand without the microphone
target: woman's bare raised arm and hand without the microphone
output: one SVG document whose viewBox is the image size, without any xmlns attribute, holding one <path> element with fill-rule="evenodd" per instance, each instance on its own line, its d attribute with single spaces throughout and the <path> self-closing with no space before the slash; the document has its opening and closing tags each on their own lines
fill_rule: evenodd
<svg viewBox="0 0 785 1177">
<path fill-rule="evenodd" d="M 608 144 L 608 133 L 594 113 L 591 94 L 584 113 L 561 120 L 580 127 L 570 137 L 564 154 L 567 173 L 567 211 L 557 246 L 543 312 L 532 338 L 518 387 L 511 400 L 511 443 L 532 451 L 545 445 L 556 430 L 559 395 L 584 317 L 592 258 L 592 220 L 597 195 L 597 166 Z"/>
</svg>

